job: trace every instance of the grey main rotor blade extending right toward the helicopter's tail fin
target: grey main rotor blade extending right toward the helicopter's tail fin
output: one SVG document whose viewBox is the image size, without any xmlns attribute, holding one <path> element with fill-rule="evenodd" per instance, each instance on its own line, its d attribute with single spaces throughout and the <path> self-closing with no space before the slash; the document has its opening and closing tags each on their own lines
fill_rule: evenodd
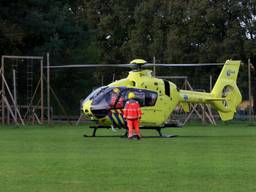
<svg viewBox="0 0 256 192">
<path fill-rule="evenodd" d="M 143 67 L 202 67 L 202 66 L 219 66 L 224 65 L 224 63 L 174 63 L 174 64 L 164 64 L 164 63 L 148 63 L 143 65 Z"/>
</svg>

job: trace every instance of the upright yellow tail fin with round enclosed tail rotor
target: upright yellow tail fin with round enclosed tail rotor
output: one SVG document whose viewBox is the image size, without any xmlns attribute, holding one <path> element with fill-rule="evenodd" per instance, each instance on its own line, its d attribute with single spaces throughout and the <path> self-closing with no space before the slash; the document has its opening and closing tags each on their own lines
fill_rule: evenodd
<svg viewBox="0 0 256 192">
<path fill-rule="evenodd" d="M 236 108 L 242 101 L 236 84 L 239 67 L 240 61 L 227 60 L 211 92 L 214 97 L 223 98 L 222 101 L 212 101 L 223 121 L 233 119 Z"/>
</svg>

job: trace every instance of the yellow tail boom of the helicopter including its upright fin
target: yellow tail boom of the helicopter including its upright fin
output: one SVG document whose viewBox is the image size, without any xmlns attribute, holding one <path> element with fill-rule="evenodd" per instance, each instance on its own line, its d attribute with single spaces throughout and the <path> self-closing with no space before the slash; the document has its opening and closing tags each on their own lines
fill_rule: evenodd
<svg viewBox="0 0 256 192">
<path fill-rule="evenodd" d="M 211 104 L 219 113 L 221 120 L 234 117 L 236 108 L 242 100 L 236 80 L 240 61 L 227 60 L 211 93 L 180 90 L 180 102 Z"/>
</svg>

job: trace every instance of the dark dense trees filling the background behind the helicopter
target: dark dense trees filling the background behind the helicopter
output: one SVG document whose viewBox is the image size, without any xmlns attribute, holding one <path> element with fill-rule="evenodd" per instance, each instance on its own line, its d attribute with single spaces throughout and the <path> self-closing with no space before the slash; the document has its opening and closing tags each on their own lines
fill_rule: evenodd
<svg viewBox="0 0 256 192">
<path fill-rule="evenodd" d="M 50 52 L 51 63 L 55 65 L 127 63 L 134 58 L 152 62 L 155 56 L 161 63 L 226 59 L 247 63 L 251 58 L 256 69 L 255 38 L 256 0 L 0 2 L 1 55 Z M 101 74 L 110 81 L 113 70 L 121 72 L 118 69 L 61 71 L 55 74 L 53 86 L 62 87 L 59 94 L 64 99 L 70 97 L 69 89 L 75 90 L 69 102 L 72 107 L 74 100 L 100 83 Z M 188 70 L 192 79 L 198 73 L 200 70 Z"/>
</svg>

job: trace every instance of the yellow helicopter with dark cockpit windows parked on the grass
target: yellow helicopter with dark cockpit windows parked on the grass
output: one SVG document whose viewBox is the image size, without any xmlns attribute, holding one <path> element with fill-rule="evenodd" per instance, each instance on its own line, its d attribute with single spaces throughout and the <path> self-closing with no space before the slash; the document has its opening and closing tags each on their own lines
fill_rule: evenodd
<svg viewBox="0 0 256 192">
<path fill-rule="evenodd" d="M 64 67 L 133 68 L 126 78 L 96 89 L 83 101 L 82 111 L 85 117 L 97 123 L 96 126 L 91 127 L 94 128 L 92 136 L 95 136 L 98 128 L 126 128 L 122 112 L 129 92 L 135 93 L 141 106 L 140 127 L 156 129 L 162 136 L 161 129 L 167 126 L 166 121 L 177 105 L 181 105 L 185 112 L 189 112 L 189 103 L 210 104 L 217 110 L 221 120 L 233 119 L 236 108 L 242 100 L 236 84 L 240 63 L 239 60 L 227 60 L 210 93 L 179 90 L 174 83 L 153 77 L 152 71 L 144 68 L 152 66 L 198 67 L 216 64 L 152 64 L 143 59 L 135 59 L 130 64 L 87 64 Z"/>
</svg>

